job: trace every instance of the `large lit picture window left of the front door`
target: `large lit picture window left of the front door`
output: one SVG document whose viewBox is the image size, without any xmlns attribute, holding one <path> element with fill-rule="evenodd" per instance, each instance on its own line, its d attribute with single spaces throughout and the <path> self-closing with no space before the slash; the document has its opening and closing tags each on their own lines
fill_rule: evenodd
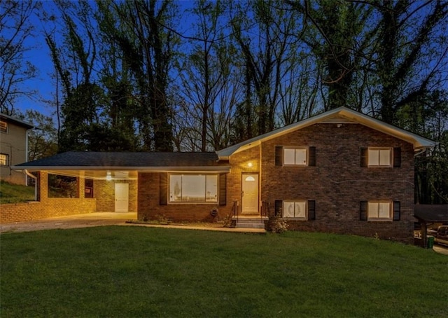
<svg viewBox="0 0 448 318">
<path fill-rule="evenodd" d="M 170 174 L 169 202 L 218 202 L 218 175 Z"/>
</svg>

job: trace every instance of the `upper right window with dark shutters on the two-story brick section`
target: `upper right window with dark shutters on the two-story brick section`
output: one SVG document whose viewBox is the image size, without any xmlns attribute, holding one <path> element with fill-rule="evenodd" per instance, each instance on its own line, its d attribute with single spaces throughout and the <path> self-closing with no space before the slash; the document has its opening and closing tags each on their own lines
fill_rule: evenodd
<svg viewBox="0 0 448 318">
<path fill-rule="evenodd" d="M 400 167 L 400 147 L 361 148 L 361 167 Z"/>
</svg>

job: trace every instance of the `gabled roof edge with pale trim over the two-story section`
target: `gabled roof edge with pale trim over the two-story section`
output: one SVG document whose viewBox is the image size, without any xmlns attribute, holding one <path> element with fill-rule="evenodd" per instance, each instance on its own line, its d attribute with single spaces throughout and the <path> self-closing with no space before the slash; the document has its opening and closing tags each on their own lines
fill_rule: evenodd
<svg viewBox="0 0 448 318">
<path fill-rule="evenodd" d="M 218 157 L 220 159 L 228 159 L 230 155 L 233 155 L 240 151 L 244 151 L 248 148 L 252 148 L 253 146 L 258 146 L 264 141 L 280 137 L 283 134 L 288 134 L 290 132 L 294 132 L 295 130 L 300 130 L 304 127 L 308 127 L 316 123 L 359 123 L 361 125 L 370 127 L 374 130 L 378 130 L 380 132 L 384 132 L 385 134 L 389 134 L 398 139 L 405 140 L 414 145 L 415 151 L 424 148 L 432 148 L 433 146 L 436 145 L 435 141 L 427 139 L 425 137 L 421 137 L 418 134 L 414 134 L 412 132 L 408 132 L 407 130 L 403 130 L 399 127 L 395 127 L 393 125 L 384 123 L 381 120 L 367 116 L 363 113 L 359 113 L 358 111 L 353 111 L 353 109 L 348 109 L 346 107 L 339 107 L 337 109 L 325 111 L 325 113 L 312 116 L 305 120 L 301 120 L 297 123 L 287 125 L 277 130 L 273 130 L 272 132 L 267 132 L 266 134 L 262 134 L 258 137 L 242 141 L 241 143 L 235 144 L 234 146 L 224 148 L 221 151 L 217 152 Z"/>
</svg>

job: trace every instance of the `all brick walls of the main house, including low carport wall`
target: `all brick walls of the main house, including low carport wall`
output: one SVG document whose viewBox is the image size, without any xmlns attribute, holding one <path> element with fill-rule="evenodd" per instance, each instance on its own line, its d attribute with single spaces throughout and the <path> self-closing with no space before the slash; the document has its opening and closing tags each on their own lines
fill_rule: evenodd
<svg viewBox="0 0 448 318">
<path fill-rule="evenodd" d="M 136 211 L 138 219 L 216 221 L 232 213 L 234 202 L 238 202 L 241 212 L 241 176 L 251 173 L 259 177 L 259 209 L 263 204 L 274 214 L 277 203 L 277 212 L 281 213 L 279 207 L 283 201 L 312 202 L 315 206 L 314 218 L 287 219 L 290 230 L 363 235 L 412 243 L 414 148 L 411 143 L 356 123 L 315 123 L 260 141 L 230 155 L 230 172 L 225 174 L 225 179 L 222 174 L 218 179 L 218 184 L 225 185 L 225 189 L 218 191 L 219 195 L 225 195 L 225 204 L 222 196 L 214 203 L 169 202 L 167 172 L 139 172 L 137 180 L 95 180 L 92 199 L 83 197 L 81 179 L 78 183 L 80 198 L 48 198 L 48 178 L 41 172 L 41 202 L 15 207 L 2 205 L 0 222 L 114 211 L 116 182 L 130 184 L 129 210 Z M 312 149 L 313 164 L 278 165 L 276 149 L 279 146 L 304 147 L 308 154 Z M 361 167 L 361 149 L 367 147 L 400 149 L 400 167 Z M 399 220 L 361 221 L 361 202 L 369 201 L 399 202 Z M 14 209 L 19 212 L 8 212 Z M 213 210 L 218 211 L 216 216 L 211 213 Z"/>
</svg>

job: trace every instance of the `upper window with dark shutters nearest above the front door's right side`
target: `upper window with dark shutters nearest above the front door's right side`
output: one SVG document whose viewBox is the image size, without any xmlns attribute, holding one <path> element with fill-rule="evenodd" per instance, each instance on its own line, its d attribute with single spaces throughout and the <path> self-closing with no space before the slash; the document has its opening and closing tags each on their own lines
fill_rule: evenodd
<svg viewBox="0 0 448 318">
<path fill-rule="evenodd" d="M 276 146 L 275 165 L 316 165 L 316 147 L 314 146 Z"/>
</svg>

